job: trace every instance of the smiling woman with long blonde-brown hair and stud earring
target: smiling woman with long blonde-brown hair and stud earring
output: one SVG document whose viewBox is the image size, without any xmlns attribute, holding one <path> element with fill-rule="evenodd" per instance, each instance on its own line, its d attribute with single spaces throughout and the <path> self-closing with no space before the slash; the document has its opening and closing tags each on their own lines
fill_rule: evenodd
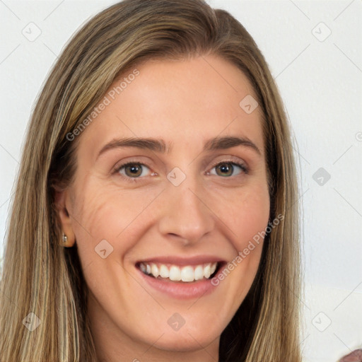
<svg viewBox="0 0 362 362">
<path fill-rule="evenodd" d="M 238 21 L 126 0 L 69 42 L 28 131 L 1 361 L 301 361 L 296 175 Z"/>
</svg>

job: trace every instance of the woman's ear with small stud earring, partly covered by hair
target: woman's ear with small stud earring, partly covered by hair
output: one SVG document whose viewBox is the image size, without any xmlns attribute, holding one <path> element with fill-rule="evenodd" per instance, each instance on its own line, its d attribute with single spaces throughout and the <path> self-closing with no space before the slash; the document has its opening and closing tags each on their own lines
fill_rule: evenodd
<svg viewBox="0 0 362 362">
<path fill-rule="evenodd" d="M 72 226 L 71 215 L 69 214 L 66 206 L 70 205 L 69 190 L 68 189 L 55 189 L 54 202 L 57 208 L 57 213 L 62 227 L 62 235 L 66 235 L 66 242 L 59 240 L 59 244 L 64 247 L 72 247 L 76 243 L 76 235 Z"/>
</svg>

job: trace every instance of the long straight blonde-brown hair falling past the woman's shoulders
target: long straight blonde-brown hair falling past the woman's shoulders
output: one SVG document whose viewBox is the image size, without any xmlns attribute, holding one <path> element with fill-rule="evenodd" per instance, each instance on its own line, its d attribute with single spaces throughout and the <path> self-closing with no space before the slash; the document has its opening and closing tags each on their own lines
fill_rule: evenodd
<svg viewBox="0 0 362 362">
<path fill-rule="evenodd" d="M 62 247 L 54 186 L 74 177 L 78 136 L 67 139 L 116 78 L 148 59 L 214 54 L 252 84 L 263 119 L 270 220 L 255 281 L 221 334 L 219 361 L 300 362 L 300 252 L 296 170 L 286 113 L 252 37 L 202 0 L 126 0 L 88 21 L 40 93 L 23 148 L 6 235 L 0 293 L 2 362 L 96 362 L 87 287 L 75 247 Z M 96 122 L 96 121 L 95 121 Z M 31 332 L 24 318 L 40 325 Z"/>
</svg>

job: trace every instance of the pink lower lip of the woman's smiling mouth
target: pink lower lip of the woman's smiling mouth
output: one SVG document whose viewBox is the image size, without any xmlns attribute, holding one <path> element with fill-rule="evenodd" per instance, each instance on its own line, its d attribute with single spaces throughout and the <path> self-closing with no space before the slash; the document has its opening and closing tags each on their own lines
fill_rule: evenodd
<svg viewBox="0 0 362 362">
<path fill-rule="evenodd" d="M 192 282 L 180 282 L 180 281 L 170 281 L 170 279 L 157 279 L 153 276 L 148 276 L 144 274 L 140 269 L 136 267 L 136 269 L 141 273 L 142 278 L 148 283 L 150 286 L 155 288 L 156 290 L 167 294 L 172 298 L 177 299 L 192 299 L 192 298 L 201 298 L 202 296 L 206 296 L 213 291 L 215 291 L 216 286 L 211 284 L 211 280 L 216 278 L 218 274 L 221 272 L 223 268 L 219 268 L 218 273 L 211 279 L 202 279 L 199 281 Z"/>
</svg>

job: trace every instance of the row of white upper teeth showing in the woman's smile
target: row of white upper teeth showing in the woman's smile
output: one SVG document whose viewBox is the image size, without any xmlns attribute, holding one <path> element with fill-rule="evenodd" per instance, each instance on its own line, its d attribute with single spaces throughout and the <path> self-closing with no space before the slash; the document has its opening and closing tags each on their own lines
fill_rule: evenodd
<svg viewBox="0 0 362 362">
<path fill-rule="evenodd" d="M 218 263 L 200 264 L 196 267 L 187 265 L 185 267 L 178 267 L 177 265 L 171 265 L 168 268 L 165 264 L 155 263 L 141 263 L 139 269 L 144 274 L 152 275 L 155 278 L 160 276 L 161 278 L 168 278 L 171 281 L 184 281 L 191 282 L 201 279 L 209 279 L 211 274 L 214 274 Z"/>
</svg>

